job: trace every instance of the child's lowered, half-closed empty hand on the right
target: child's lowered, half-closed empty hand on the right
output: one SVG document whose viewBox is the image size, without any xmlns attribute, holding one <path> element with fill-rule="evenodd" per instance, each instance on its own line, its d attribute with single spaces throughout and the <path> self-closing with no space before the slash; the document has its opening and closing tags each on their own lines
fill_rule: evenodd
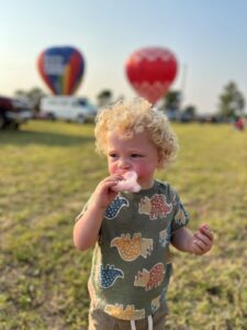
<svg viewBox="0 0 247 330">
<path fill-rule="evenodd" d="M 203 224 L 191 238 L 191 253 L 202 255 L 209 252 L 213 245 L 214 235 L 206 224 Z"/>
</svg>

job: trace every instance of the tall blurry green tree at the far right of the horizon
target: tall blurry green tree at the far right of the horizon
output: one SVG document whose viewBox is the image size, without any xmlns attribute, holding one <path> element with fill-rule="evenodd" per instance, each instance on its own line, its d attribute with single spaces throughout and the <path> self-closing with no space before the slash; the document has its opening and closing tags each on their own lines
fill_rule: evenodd
<svg viewBox="0 0 247 330">
<path fill-rule="evenodd" d="M 243 114 L 245 98 L 234 81 L 229 81 L 220 95 L 218 114 L 231 118 Z"/>
</svg>

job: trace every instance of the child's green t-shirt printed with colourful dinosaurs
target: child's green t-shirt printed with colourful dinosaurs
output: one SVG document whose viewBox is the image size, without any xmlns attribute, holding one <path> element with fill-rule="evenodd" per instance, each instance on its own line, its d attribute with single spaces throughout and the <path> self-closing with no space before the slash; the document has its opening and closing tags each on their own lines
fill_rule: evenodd
<svg viewBox="0 0 247 330">
<path fill-rule="evenodd" d="M 79 218 L 79 217 L 78 217 Z M 120 193 L 106 208 L 94 248 L 89 293 L 94 307 L 124 320 L 166 310 L 169 243 L 189 216 L 167 183 Z"/>
</svg>

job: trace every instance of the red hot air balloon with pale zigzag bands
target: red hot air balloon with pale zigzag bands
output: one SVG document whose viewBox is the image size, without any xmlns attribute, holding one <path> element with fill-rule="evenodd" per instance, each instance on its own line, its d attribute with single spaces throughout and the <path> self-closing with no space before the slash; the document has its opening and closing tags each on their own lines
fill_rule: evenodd
<svg viewBox="0 0 247 330">
<path fill-rule="evenodd" d="M 155 103 L 167 94 L 175 80 L 177 59 L 167 48 L 146 47 L 128 57 L 125 69 L 137 94 Z"/>
</svg>

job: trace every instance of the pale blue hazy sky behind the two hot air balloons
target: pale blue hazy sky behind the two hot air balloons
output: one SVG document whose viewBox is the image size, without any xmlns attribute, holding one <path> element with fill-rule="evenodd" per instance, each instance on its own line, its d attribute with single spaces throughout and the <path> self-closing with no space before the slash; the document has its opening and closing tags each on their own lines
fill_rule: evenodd
<svg viewBox="0 0 247 330">
<path fill-rule="evenodd" d="M 144 46 L 176 54 L 179 72 L 172 88 L 181 88 L 186 78 L 184 106 L 214 111 L 229 80 L 247 99 L 245 0 L 1 1 L 0 95 L 34 86 L 48 92 L 36 59 L 55 45 L 81 51 L 87 67 L 77 94 L 92 100 L 105 88 L 115 97 L 135 96 L 124 64 Z"/>
</svg>

